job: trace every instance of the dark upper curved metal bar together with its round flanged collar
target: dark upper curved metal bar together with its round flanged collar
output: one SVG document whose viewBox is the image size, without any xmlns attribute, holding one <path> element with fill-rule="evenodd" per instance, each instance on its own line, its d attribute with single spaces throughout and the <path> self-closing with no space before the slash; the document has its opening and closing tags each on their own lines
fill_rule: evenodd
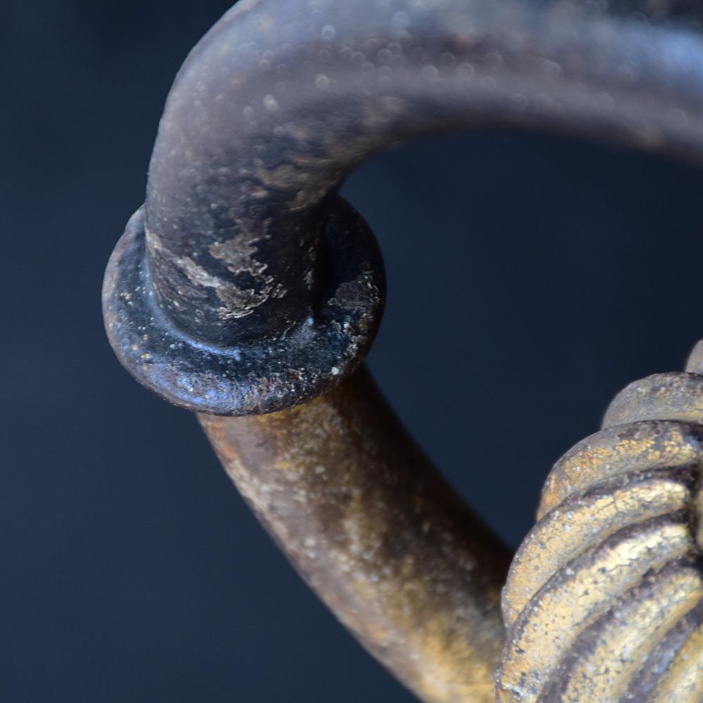
<svg viewBox="0 0 703 703">
<path fill-rule="evenodd" d="M 145 275 L 110 265 L 122 362 L 176 404 L 231 415 L 351 373 L 383 276 L 335 191 L 401 139 L 501 124 L 700 158 L 702 6 L 672 7 L 654 25 L 644 2 L 240 0 L 169 95 L 145 227 L 122 247 L 146 234 Z"/>
</svg>

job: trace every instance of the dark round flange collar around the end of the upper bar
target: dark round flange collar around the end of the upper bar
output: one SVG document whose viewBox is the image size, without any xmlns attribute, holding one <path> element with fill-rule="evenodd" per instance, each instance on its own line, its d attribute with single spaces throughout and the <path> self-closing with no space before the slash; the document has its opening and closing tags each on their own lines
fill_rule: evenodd
<svg viewBox="0 0 703 703">
<path fill-rule="evenodd" d="M 308 316 L 276 339 L 216 348 L 180 334 L 157 309 L 139 209 L 105 273 L 110 343 L 142 385 L 195 412 L 252 415 L 312 399 L 363 361 L 385 298 L 373 233 L 341 198 L 328 217 L 322 245 L 326 278 Z M 246 325 L 245 317 L 241 323 Z"/>
</svg>

